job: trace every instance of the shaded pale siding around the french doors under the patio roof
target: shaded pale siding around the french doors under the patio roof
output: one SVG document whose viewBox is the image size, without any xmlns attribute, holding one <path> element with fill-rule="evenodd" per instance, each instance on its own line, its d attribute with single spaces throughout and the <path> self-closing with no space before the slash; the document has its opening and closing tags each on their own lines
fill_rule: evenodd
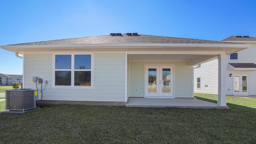
<svg viewBox="0 0 256 144">
<path fill-rule="evenodd" d="M 174 97 L 192 98 L 192 68 L 188 62 L 130 61 L 130 97 L 144 97 L 144 64 L 174 64 Z M 135 89 L 138 88 L 136 92 Z"/>
</svg>

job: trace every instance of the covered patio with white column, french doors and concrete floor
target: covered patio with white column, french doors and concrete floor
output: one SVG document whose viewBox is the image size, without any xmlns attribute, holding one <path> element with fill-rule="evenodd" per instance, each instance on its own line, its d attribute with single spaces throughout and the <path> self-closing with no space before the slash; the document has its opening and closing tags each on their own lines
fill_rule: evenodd
<svg viewBox="0 0 256 144">
<path fill-rule="evenodd" d="M 161 44 L 154 52 L 126 52 L 126 107 L 221 108 L 226 106 L 227 54 L 240 44 Z M 150 48 L 151 48 L 150 47 Z M 218 102 L 194 98 L 194 67 L 218 59 Z"/>
</svg>

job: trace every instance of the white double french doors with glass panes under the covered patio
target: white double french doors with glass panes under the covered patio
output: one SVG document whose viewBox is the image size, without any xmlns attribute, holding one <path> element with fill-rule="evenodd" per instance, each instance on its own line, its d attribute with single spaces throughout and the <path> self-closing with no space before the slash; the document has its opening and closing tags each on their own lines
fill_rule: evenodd
<svg viewBox="0 0 256 144">
<path fill-rule="evenodd" d="M 146 66 L 146 97 L 173 97 L 173 66 Z"/>
</svg>

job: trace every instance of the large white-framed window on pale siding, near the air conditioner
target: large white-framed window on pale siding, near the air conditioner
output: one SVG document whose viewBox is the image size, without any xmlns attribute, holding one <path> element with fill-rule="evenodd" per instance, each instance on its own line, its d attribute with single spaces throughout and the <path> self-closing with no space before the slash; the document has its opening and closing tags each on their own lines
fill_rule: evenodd
<svg viewBox="0 0 256 144">
<path fill-rule="evenodd" d="M 53 88 L 92 89 L 93 54 L 54 54 Z"/>
</svg>

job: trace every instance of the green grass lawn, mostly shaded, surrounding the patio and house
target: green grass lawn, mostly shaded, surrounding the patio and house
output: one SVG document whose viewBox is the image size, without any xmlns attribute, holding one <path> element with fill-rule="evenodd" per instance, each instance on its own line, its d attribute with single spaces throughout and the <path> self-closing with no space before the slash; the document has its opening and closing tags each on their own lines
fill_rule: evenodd
<svg viewBox="0 0 256 144">
<path fill-rule="evenodd" d="M 62 104 L 0 114 L 0 143 L 255 143 L 256 99 L 228 96 L 227 102 L 230 109 Z"/>
</svg>

